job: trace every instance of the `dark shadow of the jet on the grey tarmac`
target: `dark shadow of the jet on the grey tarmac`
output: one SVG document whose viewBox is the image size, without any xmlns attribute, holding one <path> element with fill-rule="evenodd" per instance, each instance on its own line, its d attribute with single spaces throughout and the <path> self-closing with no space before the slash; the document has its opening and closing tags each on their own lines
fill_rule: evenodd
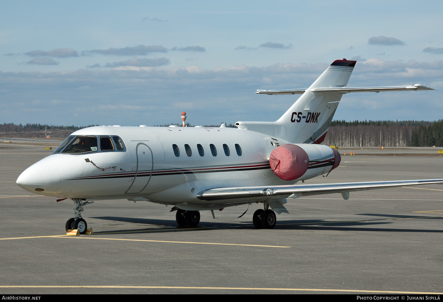
<svg viewBox="0 0 443 302">
<path fill-rule="evenodd" d="M 420 219 L 443 219 L 442 217 L 424 217 L 412 215 L 382 215 L 382 214 L 357 214 L 364 216 L 383 217 L 381 219 L 368 219 L 359 221 L 327 221 L 323 219 L 304 219 L 304 220 L 280 220 L 276 224 L 276 229 L 294 229 L 294 230 L 335 230 L 335 231 L 365 231 L 365 232 L 413 232 L 413 233 L 443 233 L 440 229 L 394 229 L 394 228 L 368 228 L 365 226 L 375 226 L 392 224 L 395 221 L 385 221 L 384 219 L 399 218 L 420 218 Z M 253 229 L 252 222 L 223 223 L 223 222 L 200 222 L 198 226 L 177 226 L 175 220 L 149 219 L 149 218 L 128 218 L 128 217 L 91 217 L 95 219 L 109 220 L 113 222 L 129 222 L 137 224 L 146 224 L 150 226 L 159 226 L 159 228 L 146 229 L 116 229 L 109 231 L 94 232 L 94 234 L 112 234 L 112 233 L 156 233 L 183 232 L 183 231 L 202 231 L 211 229 Z M 259 230 L 257 230 L 259 231 Z"/>
</svg>

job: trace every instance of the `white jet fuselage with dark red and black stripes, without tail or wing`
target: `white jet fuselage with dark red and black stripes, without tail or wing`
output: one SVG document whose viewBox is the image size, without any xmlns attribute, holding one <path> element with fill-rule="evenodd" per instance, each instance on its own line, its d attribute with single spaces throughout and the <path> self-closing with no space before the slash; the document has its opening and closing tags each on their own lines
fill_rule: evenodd
<svg viewBox="0 0 443 302">
<path fill-rule="evenodd" d="M 97 151 L 61 150 L 28 168 L 17 183 L 60 198 L 191 205 L 202 203 L 196 195 L 206 189 L 288 185 L 332 168 L 332 164 L 314 165 L 297 180 L 282 180 L 272 172 L 269 155 L 286 141 L 229 127 L 96 126 L 71 135 L 96 137 Z M 102 151 L 101 138 L 113 136 L 121 138 L 124 150 Z"/>
</svg>

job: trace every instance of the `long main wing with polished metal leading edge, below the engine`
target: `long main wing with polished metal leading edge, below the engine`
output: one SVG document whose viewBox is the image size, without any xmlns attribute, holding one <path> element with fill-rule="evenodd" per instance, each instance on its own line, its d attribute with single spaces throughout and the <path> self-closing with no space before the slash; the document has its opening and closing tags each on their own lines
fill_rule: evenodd
<svg viewBox="0 0 443 302">
<path fill-rule="evenodd" d="M 433 180 L 391 180 L 367 181 L 355 183 L 295 184 L 290 186 L 268 187 L 229 187 L 201 191 L 197 198 L 201 200 L 262 200 L 276 198 L 297 198 L 309 195 L 342 193 L 344 199 L 349 198 L 350 191 L 365 191 L 390 187 L 416 186 L 422 184 L 443 183 L 443 179 Z"/>
</svg>

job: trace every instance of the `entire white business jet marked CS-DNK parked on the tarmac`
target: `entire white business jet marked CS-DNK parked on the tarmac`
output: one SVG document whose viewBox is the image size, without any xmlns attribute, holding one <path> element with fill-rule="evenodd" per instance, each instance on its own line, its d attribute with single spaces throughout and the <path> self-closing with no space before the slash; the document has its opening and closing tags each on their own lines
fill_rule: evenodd
<svg viewBox="0 0 443 302">
<path fill-rule="evenodd" d="M 74 201 L 67 229 L 85 233 L 83 206 L 128 199 L 171 205 L 179 226 L 197 226 L 201 210 L 263 203 L 256 228 L 273 228 L 286 199 L 443 183 L 398 180 L 296 184 L 331 172 L 337 150 L 321 145 L 342 95 L 348 92 L 433 90 L 423 85 L 346 87 L 356 61 L 334 61 L 307 89 L 257 90 L 302 94 L 276 122 L 236 122 L 236 128 L 97 126 L 75 131 L 17 179 L 23 189 Z"/>
</svg>

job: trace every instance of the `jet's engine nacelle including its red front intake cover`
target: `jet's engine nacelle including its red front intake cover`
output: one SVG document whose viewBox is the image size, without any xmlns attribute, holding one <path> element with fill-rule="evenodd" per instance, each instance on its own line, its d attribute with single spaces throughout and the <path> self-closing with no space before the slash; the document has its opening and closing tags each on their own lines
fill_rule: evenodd
<svg viewBox="0 0 443 302">
<path fill-rule="evenodd" d="M 340 161 L 336 149 L 317 144 L 284 144 L 269 156 L 272 171 L 282 180 L 322 175 L 337 168 Z"/>
</svg>

